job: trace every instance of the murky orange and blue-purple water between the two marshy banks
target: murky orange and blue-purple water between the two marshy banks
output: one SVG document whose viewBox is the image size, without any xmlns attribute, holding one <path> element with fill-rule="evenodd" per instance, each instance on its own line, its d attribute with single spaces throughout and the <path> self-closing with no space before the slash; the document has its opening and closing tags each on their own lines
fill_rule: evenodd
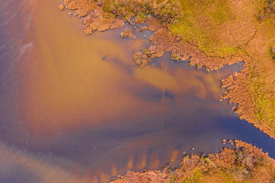
<svg viewBox="0 0 275 183">
<path fill-rule="evenodd" d="M 0 2 L 0 182 L 109 182 L 192 147 L 219 151 L 221 138 L 275 158 L 275 141 L 219 101 L 241 64 L 206 73 L 167 54 L 139 69 L 132 54 L 148 36 L 86 36 L 61 2 Z"/>
</svg>

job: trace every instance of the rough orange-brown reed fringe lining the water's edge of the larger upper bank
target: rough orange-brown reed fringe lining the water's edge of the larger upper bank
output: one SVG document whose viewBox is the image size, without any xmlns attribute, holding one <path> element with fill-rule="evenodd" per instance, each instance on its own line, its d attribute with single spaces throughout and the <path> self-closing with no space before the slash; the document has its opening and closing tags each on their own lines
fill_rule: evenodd
<svg viewBox="0 0 275 183">
<path fill-rule="evenodd" d="M 181 36 L 172 34 L 168 29 L 169 24 L 160 22 L 153 16 L 142 16 L 139 14 L 139 10 L 136 10 L 136 12 L 123 12 L 121 10 L 123 16 L 118 16 L 119 13 L 106 12 L 104 5 L 104 2 L 89 1 L 87 3 L 84 0 L 65 0 L 64 5 L 61 5 L 60 8 L 61 10 L 64 10 L 64 8 L 73 10 L 75 12 L 74 16 L 84 17 L 83 26 L 87 35 L 93 34 L 95 31 L 102 32 L 107 29 L 119 29 L 124 26 L 125 22 L 128 22 L 132 28 L 127 26 L 122 32 L 122 38 L 135 38 L 135 31 L 143 32 L 144 30 L 149 30 L 152 32 L 153 35 L 149 38 L 149 41 L 153 43 L 153 46 L 133 54 L 135 64 L 141 68 L 151 62 L 153 58 L 162 57 L 166 52 L 170 53 L 172 60 L 188 60 L 190 66 L 195 66 L 197 69 L 205 68 L 206 71 L 216 71 L 224 65 L 243 62 L 243 69 L 239 73 L 234 73 L 221 80 L 221 88 L 226 90 L 221 96 L 221 100 L 228 99 L 229 103 L 234 103 L 237 106 L 234 108 L 234 112 L 239 114 L 239 119 L 245 119 L 245 121 L 252 123 L 271 138 L 275 138 L 275 124 L 272 121 L 270 122 L 270 120 L 273 120 L 275 107 L 270 110 L 270 114 L 264 114 L 264 110 L 274 105 L 274 101 L 268 97 L 266 99 L 268 106 L 263 106 L 265 104 L 261 103 L 261 99 L 256 96 L 258 93 L 251 87 L 253 83 L 251 84 L 248 81 L 250 80 L 248 76 L 252 73 L 250 70 L 257 66 L 257 63 L 253 62 L 253 58 L 245 49 L 257 38 L 262 23 L 259 23 L 253 33 L 253 37 L 245 42 L 245 45 L 241 45 L 234 55 L 208 56 L 195 43 L 186 42 Z M 112 11 L 114 10 L 115 8 L 112 9 Z M 128 14 L 130 15 L 128 16 Z M 133 22 L 131 22 L 131 19 L 133 19 Z M 139 30 L 135 30 L 137 25 L 142 25 L 142 27 Z M 269 68 L 272 69 L 272 66 L 269 66 Z M 274 68 L 272 70 L 275 72 Z M 272 71 L 269 71 L 268 74 L 272 75 Z M 256 75 L 255 77 L 258 76 Z M 275 81 L 273 75 L 272 80 Z M 275 90 L 275 88 L 272 88 L 272 90 Z M 261 95 L 265 95 L 265 91 L 262 91 Z M 258 100 L 260 101 L 258 102 Z M 257 102 L 259 103 L 258 106 Z M 266 123 L 269 123 L 269 125 L 266 125 Z"/>
</svg>

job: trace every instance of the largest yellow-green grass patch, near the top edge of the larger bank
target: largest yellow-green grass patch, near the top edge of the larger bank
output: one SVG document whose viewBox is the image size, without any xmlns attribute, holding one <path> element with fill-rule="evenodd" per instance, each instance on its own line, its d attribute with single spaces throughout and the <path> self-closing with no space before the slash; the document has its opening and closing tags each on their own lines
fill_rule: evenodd
<svg viewBox="0 0 275 183">
<path fill-rule="evenodd" d="M 181 0 L 179 21 L 169 25 L 170 32 L 181 35 L 186 42 L 195 43 L 208 56 L 226 57 L 236 54 L 237 47 L 219 40 L 221 25 L 232 19 L 227 0 Z"/>
</svg>

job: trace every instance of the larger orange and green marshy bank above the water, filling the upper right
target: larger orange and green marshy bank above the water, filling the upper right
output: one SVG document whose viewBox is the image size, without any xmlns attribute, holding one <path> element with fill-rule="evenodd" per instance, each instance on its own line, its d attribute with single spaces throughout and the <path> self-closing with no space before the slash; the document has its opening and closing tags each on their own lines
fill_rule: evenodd
<svg viewBox="0 0 275 183">
<path fill-rule="evenodd" d="M 222 80 L 221 99 L 238 103 L 241 119 L 275 138 L 274 0 L 65 0 L 64 6 L 86 16 L 87 34 L 124 23 L 154 32 L 154 46 L 133 56 L 140 67 L 165 52 L 207 71 L 243 61 L 240 73 Z M 122 37 L 132 34 L 127 27 Z"/>
</svg>

